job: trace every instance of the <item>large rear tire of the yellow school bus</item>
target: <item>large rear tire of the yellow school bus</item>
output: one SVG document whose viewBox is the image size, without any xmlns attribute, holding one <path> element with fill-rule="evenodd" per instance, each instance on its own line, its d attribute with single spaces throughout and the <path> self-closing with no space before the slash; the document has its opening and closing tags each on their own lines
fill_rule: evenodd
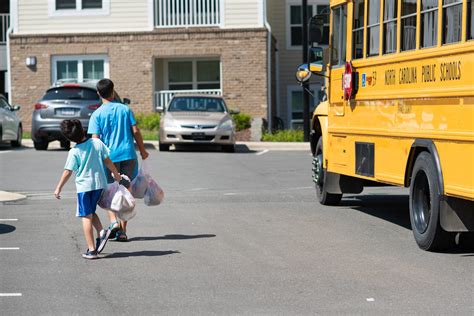
<svg viewBox="0 0 474 316">
<path fill-rule="evenodd" d="M 445 250 L 454 235 L 440 225 L 440 175 L 429 152 L 416 158 L 410 182 L 410 222 L 415 241 L 423 250 Z"/>
</svg>

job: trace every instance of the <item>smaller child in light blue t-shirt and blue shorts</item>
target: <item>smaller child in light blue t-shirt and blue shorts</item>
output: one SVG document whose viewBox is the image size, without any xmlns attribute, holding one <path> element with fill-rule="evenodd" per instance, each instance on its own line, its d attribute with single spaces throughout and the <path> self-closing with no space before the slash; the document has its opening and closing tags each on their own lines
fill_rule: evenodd
<svg viewBox="0 0 474 316">
<path fill-rule="evenodd" d="M 112 172 L 114 179 L 120 181 L 120 174 L 109 158 L 109 149 L 99 139 L 87 139 L 79 120 L 64 120 L 61 133 L 76 146 L 69 151 L 64 172 L 54 191 L 60 199 L 61 190 L 71 174 L 76 174 L 77 217 L 82 218 L 82 228 L 87 242 L 87 250 L 82 257 L 96 259 L 104 249 L 110 230 L 104 230 L 99 217 L 95 213 L 102 190 L 107 186 L 104 164 Z M 94 243 L 93 228 L 97 231 Z"/>
</svg>

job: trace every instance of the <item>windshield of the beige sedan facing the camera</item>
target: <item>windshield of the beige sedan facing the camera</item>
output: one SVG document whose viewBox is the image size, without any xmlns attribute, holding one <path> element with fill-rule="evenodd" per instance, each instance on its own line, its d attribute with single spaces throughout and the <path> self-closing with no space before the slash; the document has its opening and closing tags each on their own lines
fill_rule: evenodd
<svg viewBox="0 0 474 316">
<path fill-rule="evenodd" d="M 170 112 L 226 112 L 222 99 L 206 97 L 178 97 L 171 101 Z"/>
</svg>

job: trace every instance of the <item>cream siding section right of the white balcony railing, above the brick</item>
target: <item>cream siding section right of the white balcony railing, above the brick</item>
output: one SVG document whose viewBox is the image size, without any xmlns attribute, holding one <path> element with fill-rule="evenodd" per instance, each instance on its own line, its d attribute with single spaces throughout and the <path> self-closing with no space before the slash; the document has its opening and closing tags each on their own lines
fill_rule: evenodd
<svg viewBox="0 0 474 316">
<path fill-rule="evenodd" d="M 224 27 L 263 27 L 263 0 L 224 0 Z"/>
</svg>

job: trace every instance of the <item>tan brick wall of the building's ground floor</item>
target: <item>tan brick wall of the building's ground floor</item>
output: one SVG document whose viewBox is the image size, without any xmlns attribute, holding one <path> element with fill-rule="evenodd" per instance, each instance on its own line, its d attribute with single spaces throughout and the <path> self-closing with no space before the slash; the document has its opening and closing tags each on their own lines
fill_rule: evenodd
<svg viewBox="0 0 474 316">
<path fill-rule="evenodd" d="M 17 35 L 11 37 L 13 103 L 22 106 L 25 130 L 31 128 L 36 101 L 51 85 L 55 55 L 109 57 L 110 78 L 118 93 L 132 100 L 135 112 L 153 111 L 155 58 L 220 57 L 222 90 L 230 108 L 255 118 L 267 113 L 267 62 L 264 29 L 176 29 L 148 33 Z M 28 68 L 26 57 L 36 56 Z"/>
</svg>

